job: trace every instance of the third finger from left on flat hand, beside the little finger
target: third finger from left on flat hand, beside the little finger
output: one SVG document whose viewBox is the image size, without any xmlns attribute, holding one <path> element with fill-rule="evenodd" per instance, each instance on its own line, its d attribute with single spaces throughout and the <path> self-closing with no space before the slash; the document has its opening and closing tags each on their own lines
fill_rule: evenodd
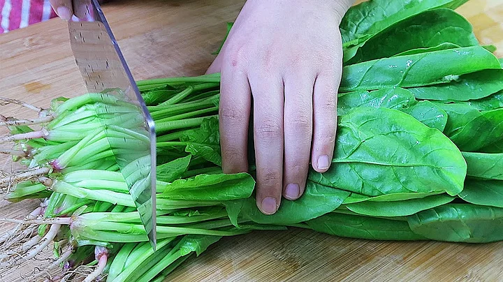
<svg viewBox="0 0 503 282">
<path fill-rule="evenodd" d="M 283 196 L 296 200 L 304 193 L 312 140 L 314 75 L 285 81 Z"/>
</svg>

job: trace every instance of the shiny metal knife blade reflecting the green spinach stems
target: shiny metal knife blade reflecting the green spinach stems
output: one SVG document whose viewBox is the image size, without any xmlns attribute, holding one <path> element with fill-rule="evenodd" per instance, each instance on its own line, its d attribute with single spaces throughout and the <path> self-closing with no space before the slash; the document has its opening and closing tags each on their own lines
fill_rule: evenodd
<svg viewBox="0 0 503 282">
<path fill-rule="evenodd" d="M 76 6 L 75 6 L 76 7 Z M 156 135 L 154 121 L 97 0 L 68 22 L 70 43 L 103 131 L 129 187 L 152 248 L 156 248 Z M 110 99 L 112 97 L 112 99 Z M 104 118 L 110 117 L 113 118 Z M 102 118 L 103 117 L 103 118 Z"/>
</svg>

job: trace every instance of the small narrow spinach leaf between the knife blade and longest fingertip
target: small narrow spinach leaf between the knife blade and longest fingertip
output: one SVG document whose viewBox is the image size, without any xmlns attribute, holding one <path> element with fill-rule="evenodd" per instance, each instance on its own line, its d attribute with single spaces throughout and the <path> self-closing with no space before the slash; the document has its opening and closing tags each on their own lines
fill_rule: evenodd
<svg viewBox="0 0 503 282">
<path fill-rule="evenodd" d="M 157 198 L 173 200 L 224 201 L 248 198 L 255 180 L 247 173 L 197 175 L 158 186 Z"/>
</svg>

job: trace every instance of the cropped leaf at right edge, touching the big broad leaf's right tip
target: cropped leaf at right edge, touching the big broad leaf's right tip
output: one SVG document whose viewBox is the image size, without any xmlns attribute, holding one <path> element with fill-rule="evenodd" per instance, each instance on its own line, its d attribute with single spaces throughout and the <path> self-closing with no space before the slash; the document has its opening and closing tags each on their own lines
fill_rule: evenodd
<svg viewBox="0 0 503 282">
<path fill-rule="evenodd" d="M 503 180 L 503 154 L 462 152 L 467 162 L 467 176 Z"/>
</svg>

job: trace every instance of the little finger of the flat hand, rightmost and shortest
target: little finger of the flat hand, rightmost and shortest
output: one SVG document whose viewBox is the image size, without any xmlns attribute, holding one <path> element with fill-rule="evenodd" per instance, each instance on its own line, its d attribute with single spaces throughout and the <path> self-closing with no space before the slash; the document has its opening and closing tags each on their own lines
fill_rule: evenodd
<svg viewBox="0 0 503 282">
<path fill-rule="evenodd" d="M 314 82 L 314 131 L 312 142 L 312 167 L 326 172 L 332 163 L 337 128 L 337 89 L 340 75 L 320 74 Z"/>
</svg>

